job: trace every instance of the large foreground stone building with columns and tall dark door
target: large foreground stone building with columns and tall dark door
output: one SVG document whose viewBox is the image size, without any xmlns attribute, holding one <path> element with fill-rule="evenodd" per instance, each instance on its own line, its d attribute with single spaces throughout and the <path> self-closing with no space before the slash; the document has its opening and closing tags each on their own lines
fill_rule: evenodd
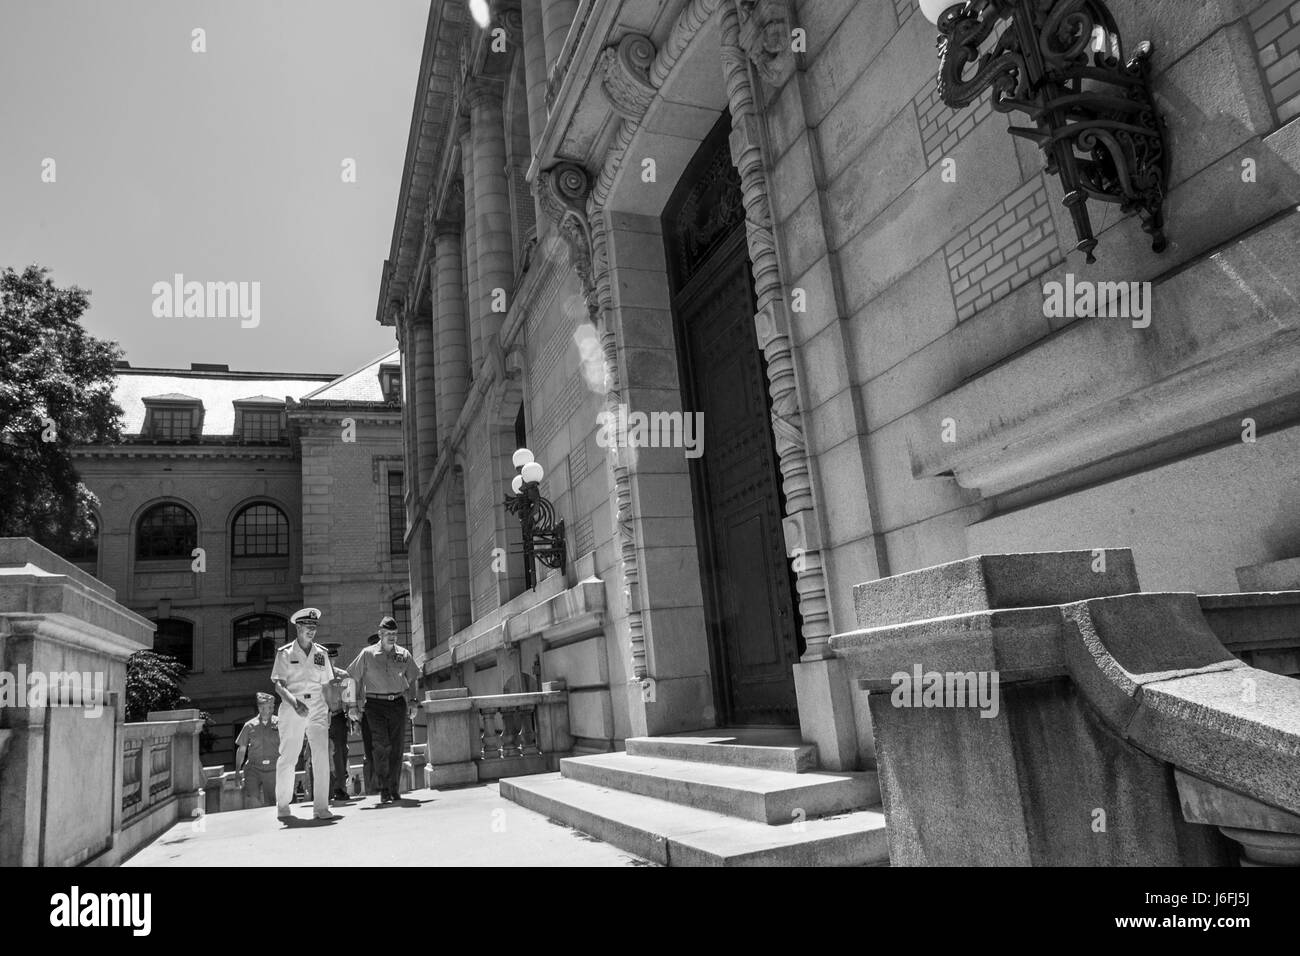
<svg viewBox="0 0 1300 956">
<path fill-rule="evenodd" d="M 940 101 L 915 0 L 433 3 L 377 315 L 429 687 L 563 679 L 578 753 L 776 724 L 861 769 L 859 583 L 1300 554 L 1300 13 L 1110 7 L 1154 44 L 1169 243 L 1095 204 L 1086 264 L 1023 117 Z M 1149 282 L 1149 321 L 1053 315 L 1078 281 Z M 536 588 L 520 446 L 567 533 Z"/>
</svg>

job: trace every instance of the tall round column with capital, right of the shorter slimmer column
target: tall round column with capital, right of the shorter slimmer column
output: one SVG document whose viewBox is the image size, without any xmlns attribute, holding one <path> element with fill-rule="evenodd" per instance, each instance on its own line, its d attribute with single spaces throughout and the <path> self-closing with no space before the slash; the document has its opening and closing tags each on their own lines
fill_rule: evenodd
<svg viewBox="0 0 1300 956">
<path fill-rule="evenodd" d="M 506 126 L 502 116 L 502 87 L 485 79 L 473 81 L 465 90 L 469 103 L 469 125 L 473 133 L 474 189 L 474 264 L 478 267 L 478 299 L 472 319 L 477 324 L 478 351 L 474 367 L 486 351 L 488 342 L 499 337 L 503 311 L 493 311 L 515 285 L 515 251 L 510 235 L 510 182 L 506 178 Z M 508 307 L 508 298 L 506 306 Z M 471 326 L 473 328 L 473 325 Z"/>
</svg>

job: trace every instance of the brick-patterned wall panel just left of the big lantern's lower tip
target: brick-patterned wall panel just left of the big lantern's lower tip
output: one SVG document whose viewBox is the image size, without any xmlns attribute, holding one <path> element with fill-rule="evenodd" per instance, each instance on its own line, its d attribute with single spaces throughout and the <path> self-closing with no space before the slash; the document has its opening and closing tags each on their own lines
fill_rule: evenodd
<svg viewBox="0 0 1300 956">
<path fill-rule="evenodd" d="M 1035 176 L 944 247 L 958 320 L 1062 261 L 1048 202 Z"/>
</svg>

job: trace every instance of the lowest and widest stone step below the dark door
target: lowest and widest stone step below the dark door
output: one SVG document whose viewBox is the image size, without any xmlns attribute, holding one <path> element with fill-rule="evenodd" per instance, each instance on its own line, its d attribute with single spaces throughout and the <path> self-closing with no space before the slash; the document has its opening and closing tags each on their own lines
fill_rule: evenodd
<svg viewBox="0 0 1300 956">
<path fill-rule="evenodd" d="M 500 795 L 662 866 L 889 864 L 885 816 L 879 806 L 768 826 L 560 774 L 504 779 Z"/>
</svg>

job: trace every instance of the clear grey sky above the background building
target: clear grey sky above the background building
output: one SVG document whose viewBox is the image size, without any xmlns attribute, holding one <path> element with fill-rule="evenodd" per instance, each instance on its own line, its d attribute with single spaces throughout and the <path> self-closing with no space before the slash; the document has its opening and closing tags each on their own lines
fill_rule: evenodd
<svg viewBox="0 0 1300 956">
<path fill-rule="evenodd" d="M 134 367 L 342 373 L 389 351 L 374 311 L 428 13 L 0 0 L 0 268 L 88 290 L 83 325 Z M 155 290 L 177 273 L 203 315 Z M 244 312 L 208 313 L 208 282 L 247 284 Z"/>
</svg>

